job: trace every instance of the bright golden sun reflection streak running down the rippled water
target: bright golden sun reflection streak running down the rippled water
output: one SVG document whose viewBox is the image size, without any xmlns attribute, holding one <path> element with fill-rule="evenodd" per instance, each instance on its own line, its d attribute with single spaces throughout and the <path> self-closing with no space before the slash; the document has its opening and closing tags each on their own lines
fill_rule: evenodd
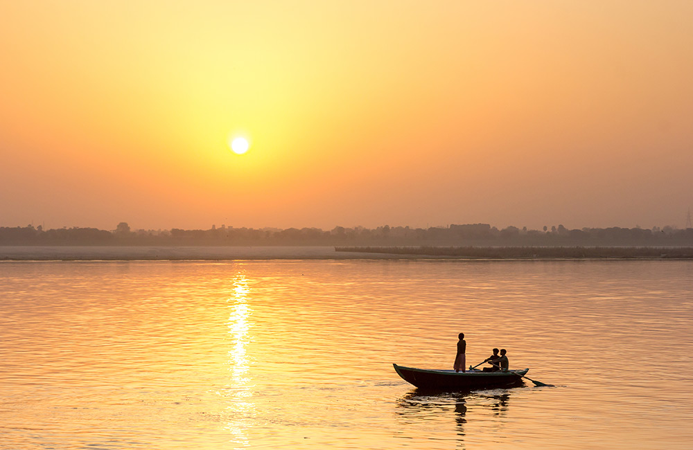
<svg viewBox="0 0 693 450">
<path fill-rule="evenodd" d="M 227 407 L 229 422 L 225 429 L 231 433 L 231 442 L 237 447 L 249 447 L 246 431 L 249 426 L 252 426 L 252 417 L 255 413 L 247 354 L 251 328 L 249 318 L 252 314 L 247 305 L 249 293 L 247 279 L 243 274 L 239 274 L 233 281 L 232 294 L 227 298 L 229 306 L 227 326 L 231 350 L 228 352 L 230 379 L 225 391 L 225 397 L 229 401 Z"/>
</svg>

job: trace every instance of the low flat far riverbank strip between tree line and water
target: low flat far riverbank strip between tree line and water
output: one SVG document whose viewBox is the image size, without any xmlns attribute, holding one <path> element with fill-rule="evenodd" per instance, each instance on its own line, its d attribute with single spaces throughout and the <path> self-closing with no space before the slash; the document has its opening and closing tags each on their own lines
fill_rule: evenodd
<svg viewBox="0 0 693 450">
<path fill-rule="evenodd" d="M 693 247 L 0 246 L 0 262 L 234 260 L 693 260 Z"/>
</svg>

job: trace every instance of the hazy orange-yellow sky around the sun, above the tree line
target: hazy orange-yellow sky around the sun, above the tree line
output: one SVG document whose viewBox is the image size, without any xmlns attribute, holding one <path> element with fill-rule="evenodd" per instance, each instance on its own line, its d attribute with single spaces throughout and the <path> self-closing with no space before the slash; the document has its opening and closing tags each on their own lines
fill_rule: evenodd
<svg viewBox="0 0 693 450">
<path fill-rule="evenodd" d="M 649 228 L 693 207 L 693 1 L 0 17 L 0 226 Z"/>
</svg>

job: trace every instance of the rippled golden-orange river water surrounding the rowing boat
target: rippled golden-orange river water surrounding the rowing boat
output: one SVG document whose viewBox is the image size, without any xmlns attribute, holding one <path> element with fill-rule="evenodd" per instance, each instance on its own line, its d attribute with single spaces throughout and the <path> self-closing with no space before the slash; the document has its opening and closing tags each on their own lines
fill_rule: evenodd
<svg viewBox="0 0 693 450">
<path fill-rule="evenodd" d="M 2 449 L 690 449 L 693 262 L 0 263 Z M 421 395 L 493 347 L 554 388 Z"/>
</svg>

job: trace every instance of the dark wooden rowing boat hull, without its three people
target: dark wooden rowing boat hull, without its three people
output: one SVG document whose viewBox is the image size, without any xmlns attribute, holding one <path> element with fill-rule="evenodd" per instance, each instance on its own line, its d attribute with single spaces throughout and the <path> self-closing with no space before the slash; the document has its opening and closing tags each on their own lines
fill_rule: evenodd
<svg viewBox="0 0 693 450">
<path fill-rule="evenodd" d="M 392 364 L 397 374 L 417 388 L 426 390 L 475 390 L 489 388 L 509 388 L 521 386 L 523 375 L 529 369 L 508 370 L 507 372 L 482 372 L 472 370 L 430 370 Z"/>
</svg>

